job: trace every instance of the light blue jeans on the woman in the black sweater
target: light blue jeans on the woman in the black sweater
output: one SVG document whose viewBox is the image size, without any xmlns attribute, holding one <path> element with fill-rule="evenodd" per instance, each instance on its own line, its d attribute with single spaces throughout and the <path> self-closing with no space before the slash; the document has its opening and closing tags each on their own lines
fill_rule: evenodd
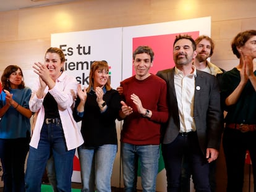
<svg viewBox="0 0 256 192">
<path fill-rule="evenodd" d="M 103 144 L 95 148 L 78 148 L 81 167 L 82 192 L 111 192 L 111 175 L 116 144 Z"/>
</svg>

